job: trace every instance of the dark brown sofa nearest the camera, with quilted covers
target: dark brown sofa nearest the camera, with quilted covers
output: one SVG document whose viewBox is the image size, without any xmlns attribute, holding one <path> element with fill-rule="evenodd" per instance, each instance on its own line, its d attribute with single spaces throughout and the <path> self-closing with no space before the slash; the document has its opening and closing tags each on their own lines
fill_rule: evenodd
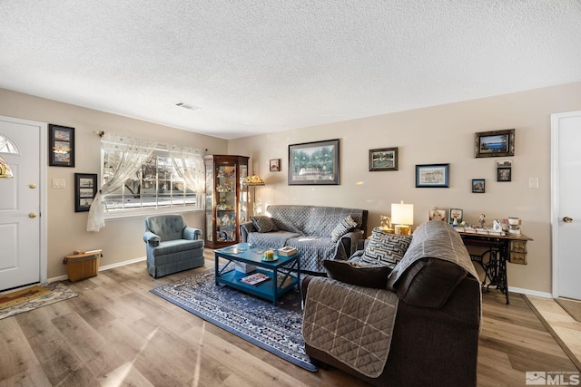
<svg viewBox="0 0 581 387">
<path fill-rule="evenodd" d="M 358 372 L 333 353 L 310 345 L 307 339 L 305 352 L 313 363 L 331 365 L 376 386 L 476 386 L 482 305 L 476 276 L 458 232 L 442 221 L 426 222 L 414 232 L 406 255 L 386 278 L 386 289 L 378 290 L 382 300 L 389 300 L 393 294 L 399 298 L 389 356 L 379 376 Z M 301 286 L 303 299 L 307 300 L 305 314 L 317 306 L 310 304 L 308 296 L 314 278 L 329 281 L 328 293 L 339 283 L 307 276 Z M 367 289 L 358 285 L 341 287 L 355 294 Z M 375 313 L 365 303 L 352 304 L 349 314 L 360 319 Z M 340 330 L 343 325 L 337 321 L 333 329 Z"/>
</svg>

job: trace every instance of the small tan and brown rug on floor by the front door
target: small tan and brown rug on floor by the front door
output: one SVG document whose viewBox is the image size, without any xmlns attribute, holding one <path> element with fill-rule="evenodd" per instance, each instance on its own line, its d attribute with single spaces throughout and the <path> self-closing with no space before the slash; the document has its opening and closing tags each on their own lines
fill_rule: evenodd
<svg viewBox="0 0 581 387">
<path fill-rule="evenodd" d="M 0 302 L 0 320 L 76 296 L 76 293 L 60 282 L 33 286 L 0 295 L 0 300 L 2 300 Z"/>
</svg>

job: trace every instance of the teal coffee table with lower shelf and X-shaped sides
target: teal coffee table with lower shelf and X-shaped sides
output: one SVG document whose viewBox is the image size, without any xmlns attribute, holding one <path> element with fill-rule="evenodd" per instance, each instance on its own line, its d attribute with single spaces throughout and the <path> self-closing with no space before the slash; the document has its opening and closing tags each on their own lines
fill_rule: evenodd
<svg viewBox="0 0 581 387">
<path fill-rule="evenodd" d="M 276 305 L 281 295 L 284 295 L 294 286 L 300 286 L 300 252 L 293 256 L 278 256 L 274 251 L 275 261 L 263 261 L 264 251 L 268 248 L 260 246 L 250 246 L 248 243 L 239 243 L 229 247 L 214 250 L 215 255 L 215 276 L 216 285 L 228 285 L 235 289 L 256 295 L 258 297 L 272 301 Z M 228 262 L 222 267 L 219 258 Z M 249 273 L 242 273 L 234 269 L 231 263 L 241 263 L 256 266 L 256 270 Z M 258 285 L 249 285 L 241 281 L 243 277 L 251 276 L 254 273 L 262 273 L 269 276 L 269 280 Z"/>
</svg>

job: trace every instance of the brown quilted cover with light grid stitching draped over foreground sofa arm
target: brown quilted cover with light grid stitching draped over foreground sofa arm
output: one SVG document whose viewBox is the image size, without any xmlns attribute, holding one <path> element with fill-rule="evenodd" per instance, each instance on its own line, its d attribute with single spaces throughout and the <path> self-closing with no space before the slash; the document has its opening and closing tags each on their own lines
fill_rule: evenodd
<svg viewBox="0 0 581 387">
<path fill-rule="evenodd" d="M 303 338 L 341 363 L 376 378 L 388 359 L 398 303 L 398 295 L 388 290 L 312 278 Z"/>
</svg>

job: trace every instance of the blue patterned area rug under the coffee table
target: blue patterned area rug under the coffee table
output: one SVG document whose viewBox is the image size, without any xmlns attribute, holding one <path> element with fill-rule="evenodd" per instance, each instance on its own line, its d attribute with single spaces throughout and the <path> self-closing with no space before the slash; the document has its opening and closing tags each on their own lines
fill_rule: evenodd
<svg viewBox="0 0 581 387">
<path fill-rule="evenodd" d="M 318 370 L 304 349 L 298 289 L 283 295 L 275 306 L 228 286 L 215 285 L 211 269 L 151 292 L 284 360 L 311 372 Z"/>
</svg>

